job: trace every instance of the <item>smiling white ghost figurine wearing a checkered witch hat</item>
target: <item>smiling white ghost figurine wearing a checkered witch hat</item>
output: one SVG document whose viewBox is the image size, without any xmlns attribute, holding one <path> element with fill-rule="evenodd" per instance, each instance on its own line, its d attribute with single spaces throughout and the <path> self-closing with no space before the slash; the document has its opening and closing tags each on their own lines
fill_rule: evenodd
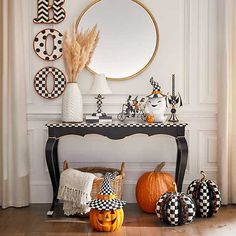
<svg viewBox="0 0 236 236">
<path fill-rule="evenodd" d="M 161 87 L 153 80 L 153 77 L 151 77 L 150 83 L 153 86 L 153 91 L 145 105 L 146 117 L 151 115 L 154 117 L 154 122 L 165 122 L 167 119 L 165 116 L 166 96 L 161 93 Z"/>
</svg>

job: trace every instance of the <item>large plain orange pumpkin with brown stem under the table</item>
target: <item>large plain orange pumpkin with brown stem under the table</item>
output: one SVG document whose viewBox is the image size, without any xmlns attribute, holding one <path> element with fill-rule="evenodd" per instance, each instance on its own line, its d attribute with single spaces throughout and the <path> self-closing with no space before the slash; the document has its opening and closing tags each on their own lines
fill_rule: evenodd
<svg viewBox="0 0 236 236">
<path fill-rule="evenodd" d="M 155 213 L 156 202 L 166 192 L 174 192 L 173 177 L 161 172 L 165 162 L 160 163 L 154 171 L 144 173 L 136 185 L 136 199 L 143 211 Z"/>
</svg>

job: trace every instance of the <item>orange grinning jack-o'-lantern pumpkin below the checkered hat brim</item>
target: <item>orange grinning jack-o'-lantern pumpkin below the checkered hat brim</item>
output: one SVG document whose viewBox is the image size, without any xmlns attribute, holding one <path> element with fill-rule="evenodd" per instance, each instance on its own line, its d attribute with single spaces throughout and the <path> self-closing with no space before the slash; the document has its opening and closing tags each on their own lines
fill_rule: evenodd
<svg viewBox="0 0 236 236">
<path fill-rule="evenodd" d="M 89 214 L 89 222 L 97 231 L 115 231 L 121 227 L 123 220 L 123 208 L 111 211 L 91 209 Z"/>
</svg>

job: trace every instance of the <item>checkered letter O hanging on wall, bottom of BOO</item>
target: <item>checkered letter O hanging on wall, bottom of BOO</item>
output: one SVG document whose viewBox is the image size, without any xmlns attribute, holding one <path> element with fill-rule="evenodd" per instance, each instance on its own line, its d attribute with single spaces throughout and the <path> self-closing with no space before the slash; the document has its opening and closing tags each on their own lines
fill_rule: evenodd
<svg viewBox="0 0 236 236">
<path fill-rule="evenodd" d="M 47 89 L 47 77 L 53 75 L 54 86 L 51 92 Z M 35 91 L 43 98 L 54 99 L 62 95 L 66 88 L 66 77 L 61 70 L 55 67 L 44 67 L 34 78 Z"/>
</svg>

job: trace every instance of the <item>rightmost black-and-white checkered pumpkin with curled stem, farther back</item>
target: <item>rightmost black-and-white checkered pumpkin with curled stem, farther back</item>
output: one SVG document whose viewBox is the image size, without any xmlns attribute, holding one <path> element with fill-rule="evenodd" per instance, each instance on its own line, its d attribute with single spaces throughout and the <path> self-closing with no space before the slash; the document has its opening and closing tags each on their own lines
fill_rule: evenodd
<svg viewBox="0 0 236 236">
<path fill-rule="evenodd" d="M 187 194 L 195 202 L 197 216 L 211 217 L 221 206 L 221 194 L 218 186 L 212 180 L 206 179 L 205 172 L 200 173 L 203 177 L 190 183 Z"/>
</svg>

